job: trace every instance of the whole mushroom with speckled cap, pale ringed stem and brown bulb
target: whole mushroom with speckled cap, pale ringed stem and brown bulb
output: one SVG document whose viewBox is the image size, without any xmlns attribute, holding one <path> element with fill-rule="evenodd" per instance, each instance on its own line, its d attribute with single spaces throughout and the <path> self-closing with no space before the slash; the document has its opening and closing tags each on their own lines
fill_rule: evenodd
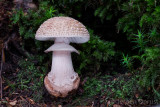
<svg viewBox="0 0 160 107">
<path fill-rule="evenodd" d="M 80 78 L 72 65 L 71 52 L 78 51 L 69 45 L 85 43 L 89 33 L 85 26 L 70 17 L 53 17 L 45 21 L 37 30 L 35 38 L 46 41 L 54 40 L 54 44 L 45 52 L 53 52 L 51 71 L 44 79 L 48 92 L 56 97 L 66 97 L 79 86 Z"/>
</svg>

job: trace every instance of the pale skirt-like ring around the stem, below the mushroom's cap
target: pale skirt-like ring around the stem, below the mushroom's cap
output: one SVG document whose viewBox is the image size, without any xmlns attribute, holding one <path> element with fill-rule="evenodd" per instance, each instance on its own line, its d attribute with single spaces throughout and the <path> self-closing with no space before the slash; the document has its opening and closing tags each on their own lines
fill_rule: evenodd
<svg viewBox="0 0 160 107">
<path fill-rule="evenodd" d="M 79 54 L 79 52 L 74 47 L 66 43 L 56 43 L 49 47 L 47 50 L 45 50 L 46 53 L 51 51 L 70 51 Z"/>
</svg>

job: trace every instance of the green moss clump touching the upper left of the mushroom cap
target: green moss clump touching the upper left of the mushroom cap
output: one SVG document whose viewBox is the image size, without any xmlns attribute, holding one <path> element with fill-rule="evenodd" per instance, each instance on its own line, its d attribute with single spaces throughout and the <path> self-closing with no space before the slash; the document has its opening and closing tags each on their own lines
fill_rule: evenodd
<svg viewBox="0 0 160 107">
<path fill-rule="evenodd" d="M 19 26 L 19 34 L 24 38 L 34 38 L 34 34 L 45 20 L 53 17 L 56 12 L 54 7 L 47 7 L 48 3 L 41 3 L 37 12 L 30 10 L 28 13 L 24 13 L 22 9 L 15 10 L 15 14 L 12 17 L 12 23 Z"/>
</svg>

